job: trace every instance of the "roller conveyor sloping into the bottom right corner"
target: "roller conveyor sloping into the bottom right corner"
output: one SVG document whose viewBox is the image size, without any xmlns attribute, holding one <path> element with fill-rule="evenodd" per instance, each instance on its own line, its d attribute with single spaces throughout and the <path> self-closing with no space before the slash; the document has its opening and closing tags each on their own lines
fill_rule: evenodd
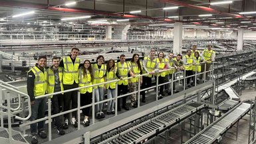
<svg viewBox="0 0 256 144">
<path fill-rule="evenodd" d="M 211 123 L 208 127 L 197 133 L 192 139 L 185 144 L 210 144 L 214 143 L 217 138 L 221 137 L 234 123 L 236 123 L 250 108 L 250 104 L 240 103 L 231 111 L 225 113 L 222 117 Z"/>
</svg>

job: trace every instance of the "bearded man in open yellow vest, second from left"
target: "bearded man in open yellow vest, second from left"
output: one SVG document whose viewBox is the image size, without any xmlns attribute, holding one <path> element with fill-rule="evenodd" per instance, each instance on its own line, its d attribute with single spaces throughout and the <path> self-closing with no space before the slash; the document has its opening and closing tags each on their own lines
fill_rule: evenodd
<svg viewBox="0 0 256 144">
<path fill-rule="evenodd" d="M 53 66 L 47 69 L 47 94 L 53 94 L 54 92 L 61 92 L 63 88 L 63 68 L 59 67 L 60 57 L 53 57 Z M 61 105 L 63 104 L 63 94 L 52 96 L 51 101 L 53 105 L 53 115 L 61 111 Z M 63 123 L 61 122 L 61 116 L 55 117 L 55 125 L 59 135 L 64 135 Z"/>
</svg>

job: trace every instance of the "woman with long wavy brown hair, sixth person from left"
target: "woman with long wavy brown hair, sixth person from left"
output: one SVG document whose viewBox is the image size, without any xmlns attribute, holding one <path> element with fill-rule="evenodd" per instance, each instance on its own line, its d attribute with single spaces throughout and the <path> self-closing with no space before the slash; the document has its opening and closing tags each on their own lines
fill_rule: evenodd
<svg viewBox="0 0 256 144">
<path fill-rule="evenodd" d="M 116 66 L 113 59 L 108 60 L 108 63 L 106 64 L 106 82 L 116 80 L 119 76 L 116 76 Z M 119 77 L 120 78 L 120 77 Z M 106 84 L 106 90 L 107 90 L 107 96 L 108 99 L 114 98 L 116 96 L 116 82 L 110 82 Z M 110 100 L 108 101 L 108 109 L 106 111 L 106 114 L 110 115 L 111 113 L 114 114 L 114 101 Z"/>
</svg>

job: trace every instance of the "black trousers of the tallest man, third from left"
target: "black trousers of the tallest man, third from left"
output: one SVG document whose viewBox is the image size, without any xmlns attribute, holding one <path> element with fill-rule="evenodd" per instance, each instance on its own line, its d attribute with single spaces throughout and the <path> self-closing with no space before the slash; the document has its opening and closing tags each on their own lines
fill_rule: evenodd
<svg viewBox="0 0 256 144">
<path fill-rule="evenodd" d="M 72 88 L 78 88 L 78 84 L 74 83 L 72 85 L 63 84 L 64 90 L 70 90 Z M 71 102 L 71 108 L 77 108 L 77 90 L 72 92 L 66 92 L 64 93 L 64 111 L 70 110 L 70 102 Z M 72 112 L 72 117 L 76 117 L 77 112 Z M 64 114 L 64 118 L 68 119 L 68 113 Z"/>
</svg>

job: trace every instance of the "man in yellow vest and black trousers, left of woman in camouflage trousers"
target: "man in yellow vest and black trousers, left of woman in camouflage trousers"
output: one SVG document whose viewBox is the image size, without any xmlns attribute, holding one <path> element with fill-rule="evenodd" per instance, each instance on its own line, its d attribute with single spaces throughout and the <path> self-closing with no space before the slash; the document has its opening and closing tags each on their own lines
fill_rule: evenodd
<svg viewBox="0 0 256 144">
<path fill-rule="evenodd" d="M 130 76 L 134 76 L 132 71 L 130 70 L 130 66 L 128 65 L 128 62 L 126 62 L 126 58 L 124 54 L 120 55 L 120 62 L 116 64 L 117 66 L 117 73 L 122 78 L 128 78 L 128 74 L 130 73 Z M 120 80 L 118 83 L 118 96 L 121 94 L 127 94 L 128 93 L 128 80 Z M 129 107 L 126 105 L 126 98 L 127 96 L 122 97 L 122 108 L 129 110 Z M 118 99 L 118 111 L 121 110 L 120 108 L 120 98 Z"/>
</svg>

